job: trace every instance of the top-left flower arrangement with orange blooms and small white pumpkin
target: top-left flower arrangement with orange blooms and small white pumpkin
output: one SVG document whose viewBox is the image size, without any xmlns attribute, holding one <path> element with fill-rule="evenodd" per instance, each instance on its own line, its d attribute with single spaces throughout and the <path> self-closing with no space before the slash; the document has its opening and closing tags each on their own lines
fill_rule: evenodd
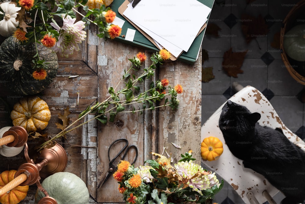
<svg viewBox="0 0 305 204">
<path fill-rule="evenodd" d="M 77 22 L 76 14 L 82 16 Z M 37 44 L 70 57 L 86 38 L 85 24 L 95 24 L 100 38 L 119 36 L 122 29 L 112 24 L 115 17 L 116 13 L 109 7 L 95 8 L 87 0 L 12 0 L 0 4 L 0 35 L 6 38 L 13 35 L 21 45 L 35 43 L 33 62 L 38 73 L 33 73 L 33 77 L 43 80 L 40 75 L 45 73 L 46 62 L 40 59 Z"/>
</svg>

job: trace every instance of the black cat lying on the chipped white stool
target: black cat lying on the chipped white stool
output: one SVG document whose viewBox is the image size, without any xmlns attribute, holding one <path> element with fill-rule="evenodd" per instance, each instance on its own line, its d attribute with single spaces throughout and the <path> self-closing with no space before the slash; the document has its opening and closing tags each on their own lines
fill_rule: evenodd
<svg viewBox="0 0 305 204">
<path fill-rule="evenodd" d="M 219 128 L 232 154 L 245 168 L 262 174 L 286 196 L 282 204 L 305 200 L 305 153 L 280 128 L 260 126 L 260 113 L 230 100 L 225 103 Z"/>
</svg>

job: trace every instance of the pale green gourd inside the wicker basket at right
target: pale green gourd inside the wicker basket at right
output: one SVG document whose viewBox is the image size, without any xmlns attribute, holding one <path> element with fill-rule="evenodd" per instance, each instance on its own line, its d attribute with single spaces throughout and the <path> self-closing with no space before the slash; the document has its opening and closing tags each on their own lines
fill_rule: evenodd
<svg viewBox="0 0 305 204">
<path fill-rule="evenodd" d="M 305 24 L 296 25 L 285 33 L 283 47 L 290 58 L 305 61 Z"/>
</svg>

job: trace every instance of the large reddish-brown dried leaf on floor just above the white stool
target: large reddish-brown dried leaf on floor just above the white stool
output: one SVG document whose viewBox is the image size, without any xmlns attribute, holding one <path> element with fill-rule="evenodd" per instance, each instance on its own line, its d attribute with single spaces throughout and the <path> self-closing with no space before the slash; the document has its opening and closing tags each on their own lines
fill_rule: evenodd
<svg viewBox="0 0 305 204">
<path fill-rule="evenodd" d="M 222 69 L 227 72 L 228 76 L 237 78 L 237 74 L 241 74 L 242 63 L 248 50 L 244 52 L 232 52 L 232 48 L 224 53 L 222 61 Z"/>
</svg>

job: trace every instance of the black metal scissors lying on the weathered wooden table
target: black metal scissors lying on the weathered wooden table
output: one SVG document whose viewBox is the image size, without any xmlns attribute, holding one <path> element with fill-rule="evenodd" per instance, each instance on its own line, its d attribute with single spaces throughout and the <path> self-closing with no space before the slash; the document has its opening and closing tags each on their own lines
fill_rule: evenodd
<svg viewBox="0 0 305 204">
<path fill-rule="evenodd" d="M 124 141 L 126 144 L 125 144 L 125 146 L 119 151 L 119 153 L 117 153 L 117 155 L 115 155 L 115 156 L 113 157 L 113 159 L 110 160 L 110 149 L 111 149 L 111 147 L 112 147 L 112 145 L 113 145 L 114 143 L 117 143 L 117 142 L 119 142 L 119 141 Z M 114 161 L 120 156 L 120 154 L 126 149 L 125 152 L 124 152 L 124 154 L 123 154 L 123 156 L 121 157 L 121 160 L 124 160 L 126 154 L 128 153 L 128 151 L 129 151 L 131 148 L 135 149 L 135 153 L 136 153 L 136 154 L 135 154 L 135 159 L 134 159 L 134 161 L 132 161 L 132 163 L 130 163 L 131 165 L 133 165 L 133 164 L 135 163 L 135 161 L 137 160 L 137 158 L 138 158 L 138 148 L 137 148 L 135 145 L 132 144 L 132 145 L 129 145 L 129 146 L 128 146 L 128 140 L 127 140 L 127 139 L 124 139 L 124 138 L 122 138 L 122 139 L 117 139 L 117 140 L 113 141 L 113 143 L 110 144 L 109 149 L 108 149 L 108 159 L 109 159 L 108 174 L 107 174 L 106 178 L 104 179 L 103 183 L 101 183 L 101 182 L 99 183 L 98 188 L 101 187 L 103 184 L 105 184 L 105 182 L 109 179 L 109 177 L 110 177 L 115 171 L 117 171 L 117 165 L 113 165 L 113 162 L 114 162 Z"/>
</svg>

